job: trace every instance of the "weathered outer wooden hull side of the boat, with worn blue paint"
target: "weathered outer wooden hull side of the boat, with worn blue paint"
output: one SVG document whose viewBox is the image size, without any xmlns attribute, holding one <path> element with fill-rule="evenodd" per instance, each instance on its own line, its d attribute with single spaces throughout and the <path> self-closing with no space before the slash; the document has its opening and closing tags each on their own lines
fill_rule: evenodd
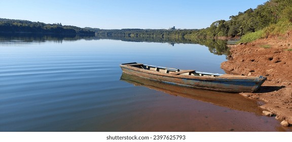
<svg viewBox="0 0 292 142">
<path fill-rule="evenodd" d="M 259 78 L 226 78 L 226 77 L 202 77 L 202 76 L 188 76 L 188 75 L 172 75 L 152 70 L 142 69 L 130 65 L 120 65 L 123 73 L 141 77 L 144 79 L 159 81 L 163 83 L 194 87 L 215 91 L 225 92 L 254 92 L 266 80 L 265 77 Z"/>
</svg>

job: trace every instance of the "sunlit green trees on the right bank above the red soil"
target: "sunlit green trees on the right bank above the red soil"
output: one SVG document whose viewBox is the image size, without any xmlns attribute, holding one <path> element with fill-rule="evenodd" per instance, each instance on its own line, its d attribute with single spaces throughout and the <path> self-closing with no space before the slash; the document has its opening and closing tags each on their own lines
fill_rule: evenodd
<svg viewBox="0 0 292 142">
<path fill-rule="evenodd" d="M 280 29 L 282 25 L 290 25 L 289 23 L 292 22 L 292 1 L 270 0 L 263 5 L 259 5 L 256 9 L 248 9 L 244 12 L 239 12 L 238 15 L 232 15 L 229 19 L 228 21 L 215 21 L 210 27 L 193 32 L 189 37 L 234 38 L 242 37 L 247 33 L 263 30 L 270 26 Z M 288 29 L 285 28 L 285 30 Z"/>
</svg>

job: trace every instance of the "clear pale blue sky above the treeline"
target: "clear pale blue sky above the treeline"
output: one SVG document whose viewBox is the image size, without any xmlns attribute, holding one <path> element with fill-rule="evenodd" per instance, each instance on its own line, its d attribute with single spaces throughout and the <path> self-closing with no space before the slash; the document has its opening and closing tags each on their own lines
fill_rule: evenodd
<svg viewBox="0 0 292 142">
<path fill-rule="evenodd" d="M 102 29 L 206 28 L 268 0 L 1 0 L 0 18 Z"/>
</svg>

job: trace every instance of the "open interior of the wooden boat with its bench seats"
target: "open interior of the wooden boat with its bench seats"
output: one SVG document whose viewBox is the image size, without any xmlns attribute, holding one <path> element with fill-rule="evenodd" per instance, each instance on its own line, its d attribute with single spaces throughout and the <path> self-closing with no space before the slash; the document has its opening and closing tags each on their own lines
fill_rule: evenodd
<svg viewBox="0 0 292 142">
<path fill-rule="evenodd" d="M 212 74 L 212 73 L 205 73 L 205 72 L 197 72 L 196 70 L 180 70 L 177 68 L 169 68 L 169 67 L 162 67 L 162 66 L 155 66 L 155 65 L 148 65 L 142 63 L 125 63 L 123 65 L 133 66 L 141 69 L 152 70 L 154 72 L 171 74 L 171 75 L 188 75 L 188 76 L 204 76 L 204 77 L 217 77 L 222 76 L 222 74 Z"/>
</svg>

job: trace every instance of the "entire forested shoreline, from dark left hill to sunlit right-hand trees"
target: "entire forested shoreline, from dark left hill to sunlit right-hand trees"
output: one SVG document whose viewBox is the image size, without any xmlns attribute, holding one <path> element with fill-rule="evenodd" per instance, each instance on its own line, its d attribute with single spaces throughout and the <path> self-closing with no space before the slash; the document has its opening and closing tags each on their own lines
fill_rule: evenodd
<svg viewBox="0 0 292 142">
<path fill-rule="evenodd" d="M 292 2 L 290 0 L 270 0 L 255 9 L 239 12 L 230 16 L 230 20 L 218 20 L 203 29 L 99 29 L 45 24 L 27 20 L 0 18 L 1 32 L 30 32 L 53 34 L 90 34 L 98 37 L 153 37 L 153 38 L 207 38 L 232 39 L 246 36 L 248 40 L 267 37 L 271 34 L 283 34 L 292 26 Z M 247 40 L 247 41 L 248 41 Z"/>
</svg>

